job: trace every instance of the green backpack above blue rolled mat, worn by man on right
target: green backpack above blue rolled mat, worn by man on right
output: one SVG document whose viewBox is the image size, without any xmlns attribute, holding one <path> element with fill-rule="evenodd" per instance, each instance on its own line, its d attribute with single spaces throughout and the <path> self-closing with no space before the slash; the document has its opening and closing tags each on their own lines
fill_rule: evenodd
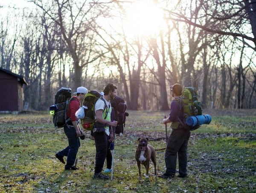
<svg viewBox="0 0 256 193">
<path fill-rule="evenodd" d="M 182 96 L 179 99 L 175 99 L 180 101 L 181 108 L 183 109 L 183 120 L 180 122 L 172 122 L 171 128 L 177 129 L 181 124 L 183 128 L 186 128 L 190 131 L 198 129 L 200 126 L 196 125 L 194 127 L 186 124 L 186 118 L 189 116 L 201 115 L 202 114 L 202 105 L 201 102 L 198 101 L 198 97 L 194 87 L 186 87 L 182 89 Z"/>
</svg>

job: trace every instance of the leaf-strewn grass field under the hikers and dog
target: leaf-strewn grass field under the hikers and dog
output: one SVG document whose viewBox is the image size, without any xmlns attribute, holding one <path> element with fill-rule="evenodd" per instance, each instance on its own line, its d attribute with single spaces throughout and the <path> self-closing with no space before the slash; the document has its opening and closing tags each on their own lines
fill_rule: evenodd
<svg viewBox="0 0 256 193">
<path fill-rule="evenodd" d="M 139 180 L 134 158 L 140 136 L 156 149 L 165 148 L 161 120 L 168 112 L 128 112 L 125 133 L 115 140 L 113 181 L 92 179 L 95 144 L 88 138 L 81 140 L 80 170 L 64 170 L 54 155 L 67 146 L 67 139 L 62 128 L 53 127 L 48 112 L 0 114 L 0 192 L 256 192 L 255 110 L 205 111 L 212 122 L 191 133 L 188 177 L 169 180 L 153 176 L 152 162 L 149 178 Z M 164 155 L 157 151 L 158 174 L 165 170 Z"/>
</svg>

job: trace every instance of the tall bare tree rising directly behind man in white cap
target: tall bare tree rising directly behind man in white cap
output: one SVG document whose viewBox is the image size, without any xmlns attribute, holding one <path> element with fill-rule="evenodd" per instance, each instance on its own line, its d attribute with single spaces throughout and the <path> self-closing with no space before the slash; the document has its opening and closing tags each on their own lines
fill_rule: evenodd
<svg viewBox="0 0 256 193">
<path fill-rule="evenodd" d="M 81 61 L 80 54 L 86 49 L 84 44 L 90 44 L 90 42 L 82 42 L 81 40 L 88 34 L 90 34 L 93 27 L 93 21 L 102 13 L 101 10 L 94 11 L 93 8 L 96 4 L 87 4 L 87 1 L 83 3 L 76 3 L 73 0 L 52 0 L 50 3 L 44 4 L 42 0 L 30 0 L 35 3 L 44 13 L 55 22 L 61 31 L 62 37 L 66 43 L 66 51 L 73 59 L 73 82 L 74 86 L 81 86 L 81 73 L 82 69 L 88 65 L 88 63 L 95 61 L 99 58 L 98 55 L 92 57 L 87 62 Z M 49 5 L 50 4 L 50 5 Z M 47 6 L 49 5 L 49 6 Z"/>
</svg>

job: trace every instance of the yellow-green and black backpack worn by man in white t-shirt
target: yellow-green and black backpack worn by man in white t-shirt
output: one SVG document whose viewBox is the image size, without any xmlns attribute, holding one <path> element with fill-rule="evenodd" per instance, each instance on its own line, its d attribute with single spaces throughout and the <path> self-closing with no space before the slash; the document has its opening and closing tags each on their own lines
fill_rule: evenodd
<svg viewBox="0 0 256 193">
<path fill-rule="evenodd" d="M 84 118 L 81 119 L 81 123 L 83 128 L 87 131 L 92 131 L 95 125 L 95 111 L 94 106 L 98 99 L 101 99 L 102 96 L 98 91 L 88 91 L 88 93 L 84 97 Z M 103 99 L 104 103 L 105 100 Z M 106 108 L 106 104 L 104 110 Z M 103 111 L 104 111 L 103 110 Z"/>
</svg>

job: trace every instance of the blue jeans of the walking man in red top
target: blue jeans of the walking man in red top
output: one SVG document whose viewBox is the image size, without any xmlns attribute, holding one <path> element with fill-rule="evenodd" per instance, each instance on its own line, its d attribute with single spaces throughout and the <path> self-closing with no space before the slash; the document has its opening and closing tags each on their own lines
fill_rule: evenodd
<svg viewBox="0 0 256 193">
<path fill-rule="evenodd" d="M 68 146 L 67 148 L 59 151 L 58 155 L 61 157 L 67 156 L 65 169 L 70 169 L 76 161 L 76 154 L 81 144 L 79 137 L 76 137 L 76 129 L 73 126 L 65 125 L 64 132 L 68 138 Z"/>
</svg>

